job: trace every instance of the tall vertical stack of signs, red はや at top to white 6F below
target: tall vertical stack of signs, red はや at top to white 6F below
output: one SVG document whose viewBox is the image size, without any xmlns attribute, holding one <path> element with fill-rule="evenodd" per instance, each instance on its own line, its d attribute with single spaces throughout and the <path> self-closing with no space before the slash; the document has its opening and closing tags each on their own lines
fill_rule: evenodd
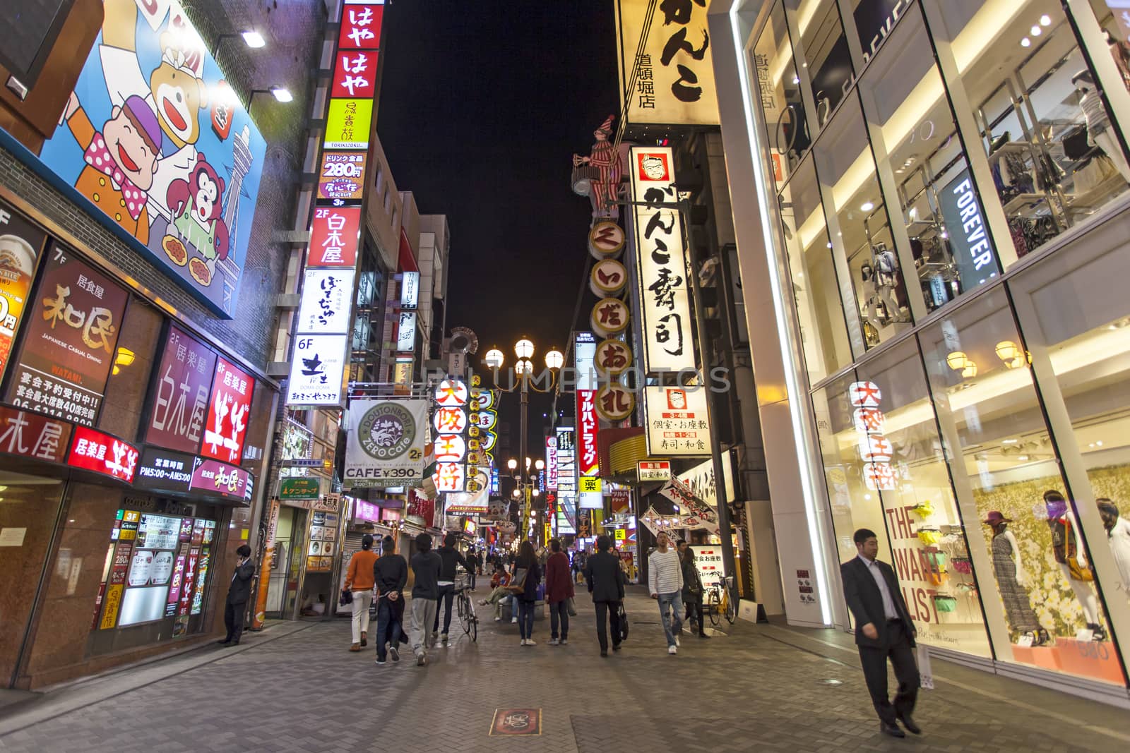
<svg viewBox="0 0 1130 753">
<path fill-rule="evenodd" d="M 287 405 L 340 405 L 349 354 L 365 155 L 373 130 L 383 0 L 345 0 L 290 358 Z M 330 268 L 330 269 L 322 269 Z"/>
</svg>

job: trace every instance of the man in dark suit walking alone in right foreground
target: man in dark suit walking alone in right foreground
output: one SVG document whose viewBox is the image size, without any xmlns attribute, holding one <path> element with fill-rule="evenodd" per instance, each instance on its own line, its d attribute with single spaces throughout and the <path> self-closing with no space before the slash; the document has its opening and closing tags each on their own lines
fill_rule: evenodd
<svg viewBox="0 0 1130 753">
<path fill-rule="evenodd" d="M 873 531 L 860 528 L 853 536 L 859 557 L 840 566 L 844 581 L 844 598 L 855 618 L 855 645 L 863 665 L 863 678 L 871 702 L 879 715 L 880 729 L 892 737 L 905 737 L 903 723 L 915 735 L 922 729 L 911 715 L 918 699 L 919 672 L 914 662 L 914 637 L 911 621 L 895 571 L 875 559 L 879 542 Z M 887 698 L 887 658 L 898 680 L 895 702 Z"/>
</svg>

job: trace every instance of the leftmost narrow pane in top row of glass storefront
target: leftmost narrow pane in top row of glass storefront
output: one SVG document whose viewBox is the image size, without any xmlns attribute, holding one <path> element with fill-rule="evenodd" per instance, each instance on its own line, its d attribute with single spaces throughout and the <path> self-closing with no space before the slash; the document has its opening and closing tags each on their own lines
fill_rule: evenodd
<svg viewBox="0 0 1130 753">
<path fill-rule="evenodd" d="M 765 112 L 773 180 L 777 187 L 789 180 L 812 140 L 800 97 L 800 78 L 792 56 L 784 9 L 777 5 L 754 46 L 758 96 Z"/>
</svg>

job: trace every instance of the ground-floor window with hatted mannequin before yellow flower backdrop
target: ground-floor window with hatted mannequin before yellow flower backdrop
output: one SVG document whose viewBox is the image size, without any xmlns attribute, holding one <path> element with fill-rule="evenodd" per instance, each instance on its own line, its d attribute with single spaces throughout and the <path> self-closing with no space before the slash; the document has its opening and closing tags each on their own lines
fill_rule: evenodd
<svg viewBox="0 0 1130 753">
<path fill-rule="evenodd" d="M 992 558 L 997 594 L 985 588 L 985 608 L 999 596 L 1009 630 L 998 658 L 1121 684 L 1087 542 L 1005 291 L 962 306 L 920 339 L 956 455 L 951 472 L 972 497 Z"/>
</svg>

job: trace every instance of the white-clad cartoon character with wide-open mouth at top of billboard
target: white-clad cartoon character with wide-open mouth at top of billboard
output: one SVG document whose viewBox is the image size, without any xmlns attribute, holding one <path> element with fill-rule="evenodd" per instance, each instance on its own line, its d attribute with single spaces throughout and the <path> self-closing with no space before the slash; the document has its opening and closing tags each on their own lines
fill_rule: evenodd
<svg viewBox="0 0 1130 753">
<path fill-rule="evenodd" d="M 162 59 L 147 80 L 137 54 L 138 17 L 156 32 L 166 14 L 168 25 L 160 34 Z M 202 43 L 179 9 L 169 11 L 167 1 L 106 0 L 98 52 L 111 103 L 119 105 L 140 97 L 157 119 L 160 158 L 149 203 L 172 220 L 165 202 L 168 186 L 173 181 L 188 180 L 197 165 L 194 145 L 200 138 L 199 115 L 207 105 L 208 91 L 202 78 Z"/>
</svg>

